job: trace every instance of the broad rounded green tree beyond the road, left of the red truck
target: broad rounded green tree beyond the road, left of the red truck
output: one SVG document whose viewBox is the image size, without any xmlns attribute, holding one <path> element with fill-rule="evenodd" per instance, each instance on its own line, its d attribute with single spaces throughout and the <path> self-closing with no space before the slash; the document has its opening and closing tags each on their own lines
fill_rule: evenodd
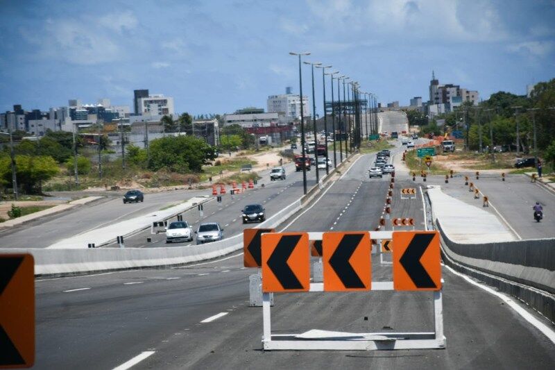
<svg viewBox="0 0 555 370">
<path fill-rule="evenodd" d="M 161 137 L 150 145 L 151 161 L 148 168 L 153 171 L 168 169 L 180 174 L 202 171 L 207 160 L 215 158 L 213 146 L 192 136 Z"/>
</svg>

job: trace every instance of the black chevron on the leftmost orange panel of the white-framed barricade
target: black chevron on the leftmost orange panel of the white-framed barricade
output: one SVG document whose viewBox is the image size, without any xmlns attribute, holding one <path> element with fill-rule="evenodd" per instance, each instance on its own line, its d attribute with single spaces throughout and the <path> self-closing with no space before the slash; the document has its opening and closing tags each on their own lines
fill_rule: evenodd
<svg viewBox="0 0 555 370">
<path fill-rule="evenodd" d="M 302 289 L 298 278 L 293 274 L 287 260 L 297 245 L 300 235 L 283 235 L 268 258 L 268 267 L 272 270 L 283 289 Z"/>
</svg>

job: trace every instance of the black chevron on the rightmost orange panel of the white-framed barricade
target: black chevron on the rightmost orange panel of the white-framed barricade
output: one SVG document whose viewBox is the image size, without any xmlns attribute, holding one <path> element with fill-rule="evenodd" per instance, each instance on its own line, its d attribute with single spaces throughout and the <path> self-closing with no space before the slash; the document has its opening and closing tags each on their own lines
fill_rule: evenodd
<svg viewBox="0 0 555 370">
<path fill-rule="evenodd" d="M 416 234 L 409 246 L 404 251 L 399 262 L 413 281 L 417 288 L 435 288 L 436 284 L 428 275 L 426 269 L 420 263 L 420 258 L 426 251 L 434 234 Z"/>
</svg>

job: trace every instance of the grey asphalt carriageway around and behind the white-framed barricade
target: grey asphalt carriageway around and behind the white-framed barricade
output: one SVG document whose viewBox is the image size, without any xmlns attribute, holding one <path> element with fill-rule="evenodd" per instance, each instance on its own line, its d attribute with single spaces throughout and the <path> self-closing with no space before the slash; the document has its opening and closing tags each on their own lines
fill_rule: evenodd
<svg viewBox="0 0 555 370">
<path fill-rule="evenodd" d="M 285 230 L 372 230 L 390 179 L 369 179 L 373 155 L 327 187 Z M 398 180 L 395 189 L 413 187 Z M 419 193 L 419 192 L 418 192 Z M 420 194 L 393 199 L 393 217 L 424 222 Z M 552 369 L 555 346 L 506 301 L 443 268 L 447 348 L 411 351 L 262 351 L 262 308 L 248 307 L 243 256 L 172 269 L 141 269 L 36 282 L 36 369 Z M 391 265 L 373 258 L 373 280 Z M 527 310 L 522 307 L 523 310 Z M 528 314 L 549 325 L 534 312 Z M 428 331 L 428 292 L 275 295 L 273 333 L 312 328 Z"/>
</svg>

